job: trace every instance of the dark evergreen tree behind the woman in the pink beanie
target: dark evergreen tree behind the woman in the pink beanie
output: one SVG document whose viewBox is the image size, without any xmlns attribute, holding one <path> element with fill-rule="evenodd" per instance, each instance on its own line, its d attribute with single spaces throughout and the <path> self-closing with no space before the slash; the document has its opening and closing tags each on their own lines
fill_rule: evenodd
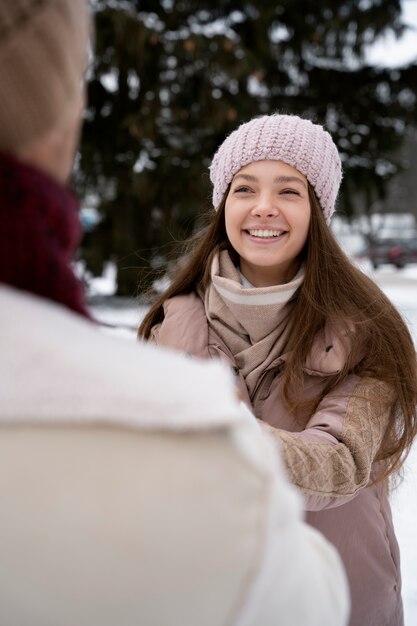
<svg viewBox="0 0 417 626">
<path fill-rule="evenodd" d="M 402 33 L 400 0 L 102 0 L 95 19 L 76 183 L 98 193 L 103 220 L 82 252 L 94 272 L 117 259 L 120 294 L 151 281 L 195 228 L 212 155 L 254 115 L 326 125 L 344 162 L 347 215 L 383 197 L 415 123 L 417 67 L 376 69 L 364 51 Z"/>
</svg>

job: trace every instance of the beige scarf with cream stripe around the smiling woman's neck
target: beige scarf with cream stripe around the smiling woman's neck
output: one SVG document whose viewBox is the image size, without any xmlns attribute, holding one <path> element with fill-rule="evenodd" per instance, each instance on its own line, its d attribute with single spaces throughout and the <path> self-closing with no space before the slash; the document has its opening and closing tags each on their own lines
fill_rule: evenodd
<svg viewBox="0 0 417 626">
<path fill-rule="evenodd" d="M 235 357 L 252 397 L 261 374 L 285 352 L 289 300 L 302 284 L 304 271 L 273 287 L 245 288 L 240 277 L 229 253 L 221 251 L 213 259 L 204 304 L 209 324 Z"/>
</svg>

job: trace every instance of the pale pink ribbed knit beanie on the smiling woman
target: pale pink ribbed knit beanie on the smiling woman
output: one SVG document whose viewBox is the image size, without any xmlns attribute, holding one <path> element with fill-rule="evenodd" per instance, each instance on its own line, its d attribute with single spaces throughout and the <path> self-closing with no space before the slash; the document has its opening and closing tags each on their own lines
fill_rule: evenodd
<svg viewBox="0 0 417 626">
<path fill-rule="evenodd" d="M 224 140 L 210 165 L 216 210 L 234 175 L 245 165 L 263 160 L 283 161 L 304 174 L 330 223 L 342 179 L 339 153 L 322 126 L 297 115 L 254 118 Z"/>
</svg>

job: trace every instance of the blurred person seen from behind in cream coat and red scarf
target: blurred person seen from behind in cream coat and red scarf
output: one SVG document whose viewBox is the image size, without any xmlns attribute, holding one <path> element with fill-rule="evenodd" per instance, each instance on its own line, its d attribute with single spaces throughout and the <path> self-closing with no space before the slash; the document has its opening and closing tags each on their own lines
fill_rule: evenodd
<svg viewBox="0 0 417 626">
<path fill-rule="evenodd" d="M 223 366 L 89 319 L 85 1 L 1 0 L 0 33 L 0 624 L 343 626 L 339 557 Z"/>
</svg>

